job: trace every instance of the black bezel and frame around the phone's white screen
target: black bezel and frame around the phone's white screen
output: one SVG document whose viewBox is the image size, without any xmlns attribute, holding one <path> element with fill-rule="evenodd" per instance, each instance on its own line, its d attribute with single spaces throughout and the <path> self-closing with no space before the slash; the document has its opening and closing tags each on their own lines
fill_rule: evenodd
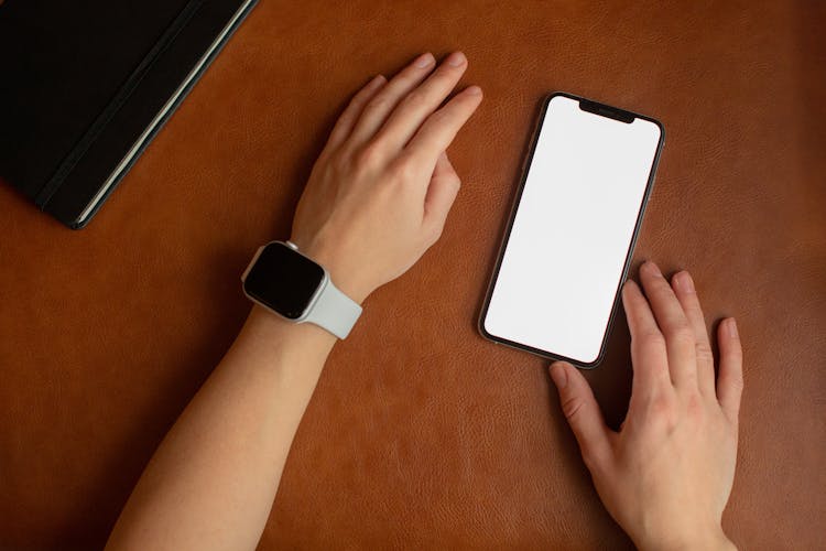
<svg viewBox="0 0 826 551">
<path fill-rule="evenodd" d="M 602 343 L 599 346 L 599 354 L 597 355 L 597 358 L 594 361 L 590 361 L 590 363 L 583 363 L 583 361 L 579 361 L 577 359 L 569 358 L 567 356 L 562 356 L 562 355 L 558 355 L 558 354 L 554 354 L 554 353 L 552 353 L 550 350 L 543 350 L 543 349 L 540 349 L 540 348 L 534 348 L 533 346 L 529 346 L 529 345 L 525 345 L 525 344 L 522 344 L 522 343 L 517 343 L 515 341 L 510 341 L 510 339 L 507 339 L 507 338 L 502 338 L 502 337 L 499 337 L 499 336 L 496 336 L 496 335 L 492 335 L 492 334 L 488 333 L 488 331 L 485 328 L 485 318 L 488 315 L 488 307 L 490 305 L 490 299 L 491 299 L 491 295 L 493 294 L 493 288 L 496 287 L 497 280 L 499 278 L 499 270 L 500 270 L 501 264 L 502 264 L 502 258 L 504 257 L 504 250 L 508 247 L 508 241 L 510 240 L 511 230 L 513 228 L 513 220 L 515 219 L 517 212 L 519 210 L 519 205 L 520 205 L 520 202 L 522 199 L 522 192 L 524 191 L 525 183 L 526 183 L 526 180 L 528 180 L 528 173 L 531 170 L 531 165 L 533 164 L 533 155 L 536 152 L 536 143 L 539 141 L 540 133 L 542 132 L 542 126 L 543 126 L 543 123 L 545 121 L 545 115 L 547 112 L 547 107 L 551 104 L 551 100 L 553 98 L 557 97 L 557 96 L 566 97 L 566 98 L 569 98 L 569 99 L 574 99 L 574 100 L 576 100 L 576 101 L 579 102 L 580 109 L 589 111 L 589 112 L 594 112 L 596 115 L 600 115 L 600 116 L 609 117 L 609 118 L 615 118 L 617 120 L 621 120 L 621 121 L 628 122 L 628 123 L 633 122 L 634 119 L 648 120 L 648 121 L 653 122 L 654 125 L 656 125 L 657 128 L 660 129 L 660 140 L 657 141 L 657 144 L 656 144 L 656 152 L 654 153 L 654 160 L 653 160 L 653 163 L 651 165 L 651 171 L 649 173 L 649 180 L 648 180 L 648 182 L 645 184 L 645 193 L 642 196 L 642 202 L 641 202 L 640 208 L 639 208 L 639 210 L 637 213 L 637 222 L 634 224 L 633 235 L 631 236 L 631 242 L 629 244 L 628 251 L 626 252 L 626 261 L 624 261 L 624 263 L 622 266 L 622 274 L 620 276 L 620 280 L 619 280 L 619 284 L 617 287 L 617 290 L 613 293 L 613 303 L 611 305 L 611 314 L 608 317 L 608 324 L 606 325 L 606 329 L 605 329 L 605 333 L 602 335 Z M 578 367 L 580 369 L 594 369 L 597 366 L 599 366 L 599 364 L 605 358 L 605 353 L 606 353 L 606 346 L 607 346 L 607 343 L 608 343 L 608 337 L 609 337 L 609 335 L 611 333 L 611 328 L 613 327 L 613 318 L 615 318 L 615 316 L 617 314 L 617 306 L 619 304 L 620 290 L 622 289 L 622 284 L 626 282 L 626 279 L 628 278 L 628 270 L 629 270 L 629 268 L 631 266 L 631 259 L 632 259 L 632 256 L 633 256 L 634 248 L 637 247 L 637 238 L 639 237 L 640 228 L 642 227 L 642 219 L 645 216 L 645 206 L 648 205 L 649 198 L 651 196 L 651 190 L 654 187 L 654 180 L 656 177 L 656 170 L 657 170 L 657 168 L 660 165 L 660 156 L 661 156 L 662 151 L 663 151 L 663 144 L 665 143 L 665 128 L 663 127 L 663 125 L 659 120 L 656 120 L 656 119 L 654 119 L 652 117 L 646 117 L 644 115 L 640 115 L 640 114 L 637 114 L 637 112 L 633 112 L 633 111 L 629 111 L 629 110 L 626 110 L 626 109 L 620 109 L 620 108 L 617 108 L 617 107 L 612 107 L 612 106 L 609 106 L 609 105 L 606 105 L 606 104 L 602 104 L 602 102 L 599 102 L 599 101 L 595 101 L 593 99 L 588 99 L 588 98 L 585 98 L 585 97 L 582 97 L 582 96 L 577 96 L 575 94 L 565 93 L 565 91 L 555 91 L 555 93 L 550 94 L 548 96 L 545 96 L 545 98 L 542 100 L 542 109 L 540 111 L 540 115 L 539 115 L 537 119 L 539 120 L 537 120 L 536 127 L 534 129 L 533 137 L 531 138 L 531 145 L 530 145 L 530 149 L 529 149 L 528 154 L 525 156 L 525 162 L 524 162 L 523 168 L 522 168 L 522 174 L 520 176 L 519 187 L 517 190 L 517 193 L 515 193 L 515 196 L 514 196 L 514 199 L 513 199 L 513 205 L 511 207 L 510 215 L 508 217 L 508 225 L 504 228 L 504 235 L 503 235 L 501 244 L 499 246 L 499 252 L 497 253 L 497 261 L 496 261 L 496 266 L 493 267 L 493 273 L 492 273 L 492 276 L 490 278 L 490 281 L 488 283 L 487 292 L 485 293 L 485 303 L 482 304 L 481 313 L 480 313 L 478 322 L 477 322 L 478 323 L 478 329 L 479 329 L 479 333 L 485 338 L 487 338 L 488 341 L 492 341 L 493 343 L 503 344 L 503 345 L 510 346 L 512 348 L 517 348 L 517 349 L 520 349 L 520 350 L 529 352 L 531 354 L 535 354 L 537 356 L 542 356 L 542 357 L 547 358 L 547 359 L 568 361 L 568 363 L 573 364 L 574 366 L 576 366 L 576 367 Z"/>
</svg>

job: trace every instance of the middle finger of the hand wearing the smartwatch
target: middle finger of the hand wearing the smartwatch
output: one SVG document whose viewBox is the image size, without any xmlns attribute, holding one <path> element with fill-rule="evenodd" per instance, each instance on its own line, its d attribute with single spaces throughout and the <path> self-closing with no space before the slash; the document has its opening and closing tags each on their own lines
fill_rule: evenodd
<svg viewBox="0 0 826 551">
<path fill-rule="evenodd" d="M 467 69 L 467 58 L 454 52 L 417 88 L 412 90 L 390 115 L 380 131 L 389 148 L 403 148 L 422 122 L 442 105 Z"/>
</svg>

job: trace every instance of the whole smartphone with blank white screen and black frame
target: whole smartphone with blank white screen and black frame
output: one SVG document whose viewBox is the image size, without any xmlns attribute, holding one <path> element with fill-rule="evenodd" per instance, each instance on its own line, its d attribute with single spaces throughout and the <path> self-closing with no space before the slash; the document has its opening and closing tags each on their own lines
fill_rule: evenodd
<svg viewBox="0 0 826 551">
<path fill-rule="evenodd" d="M 485 337 L 599 365 L 664 138 L 651 117 L 564 93 L 543 101 L 479 317 Z"/>
</svg>

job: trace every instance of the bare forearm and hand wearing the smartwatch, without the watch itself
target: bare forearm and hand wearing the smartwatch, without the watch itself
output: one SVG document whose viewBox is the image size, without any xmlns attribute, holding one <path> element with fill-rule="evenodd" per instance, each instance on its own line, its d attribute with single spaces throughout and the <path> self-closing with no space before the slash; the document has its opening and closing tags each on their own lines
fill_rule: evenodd
<svg viewBox="0 0 826 551">
<path fill-rule="evenodd" d="M 424 54 L 376 77 L 313 168 L 291 240 L 357 302 L 439 237 L 459 190 L 445 150 L 481 100 L 439 107 L 467 67 Z M 240 291 L 239 291 L 240 292 Z M 108 549 L 254 549 L 304 410 L 336 338 L 254 306 L 232 347 L 146 466 Z"/>
</svg>

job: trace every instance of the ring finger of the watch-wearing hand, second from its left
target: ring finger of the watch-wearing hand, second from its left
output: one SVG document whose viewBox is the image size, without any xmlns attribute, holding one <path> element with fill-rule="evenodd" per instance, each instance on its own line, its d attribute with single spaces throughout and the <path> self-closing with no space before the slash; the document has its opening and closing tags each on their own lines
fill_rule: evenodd
<svg viewBox="0 0 826 551">
<path fill-rule="evenodd" d="M 351 141 L 358 147 L 371 139 L 395 109 L 399 101 L 419 86 L 436 63 L 433 54 L 422 54 L 404 67 L 398 75 L 376 94 L 365 106 L 361 116 L 352 129 Z"/>
</svg>

